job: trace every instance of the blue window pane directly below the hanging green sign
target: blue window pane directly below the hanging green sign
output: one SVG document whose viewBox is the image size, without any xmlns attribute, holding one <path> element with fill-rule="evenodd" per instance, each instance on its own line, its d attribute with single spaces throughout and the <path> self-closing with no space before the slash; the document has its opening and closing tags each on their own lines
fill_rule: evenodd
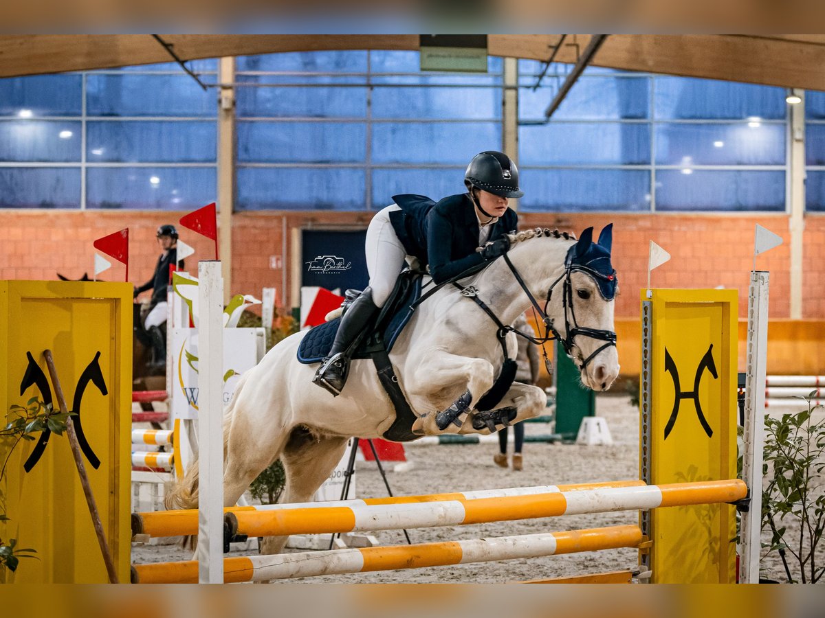
<svg viewBox="0 0 825 618">
<path fill-rule="evenodd" d="M 372 115 L 387 119 L 497 119 L 502 115 L 499 88 L 375 88 Z"/>
</svg>

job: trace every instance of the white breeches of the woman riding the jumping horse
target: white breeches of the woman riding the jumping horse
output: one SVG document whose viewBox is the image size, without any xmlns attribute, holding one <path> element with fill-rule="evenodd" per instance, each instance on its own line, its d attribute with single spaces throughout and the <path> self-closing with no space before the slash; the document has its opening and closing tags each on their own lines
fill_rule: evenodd
<svg viewBox="0 0 825 618">
<path fill-rule="evenodd" d="M 389 222 L 389 213 L 400 209 L 396 204 L 381 209 L 366 230 L 366 269 L 375 307 L 384 307 L 407 257 L 407 250 Z"/>
</svg>

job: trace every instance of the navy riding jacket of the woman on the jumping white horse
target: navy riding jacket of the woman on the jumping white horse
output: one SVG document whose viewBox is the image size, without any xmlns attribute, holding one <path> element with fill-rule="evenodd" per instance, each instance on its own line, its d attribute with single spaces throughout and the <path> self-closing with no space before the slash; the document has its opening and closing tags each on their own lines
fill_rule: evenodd
<svg viewBox="0 0 825 618">
<path fill-rule="evenodd" d="M 436 283 L 480 265 L 479 219 L 469 194 L 450 195 L 438 204 L 423 195 L 394 195 L 401 210 L 389 213 L 398 240 L 422 265 L 430 265 Z M 488 241 L 516 231 L 518 215 L 512 208 L 493 223 Z"/>
</svg>

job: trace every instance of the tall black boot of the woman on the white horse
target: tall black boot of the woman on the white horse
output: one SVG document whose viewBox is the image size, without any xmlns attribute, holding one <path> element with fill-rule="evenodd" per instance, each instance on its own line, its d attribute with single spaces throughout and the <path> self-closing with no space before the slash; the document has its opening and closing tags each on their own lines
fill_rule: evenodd
<svg viewBox="0 0 825 618">
<path fill-rule="evenodd" d="M 323 386 L 333 396 L 341 395 L 350 368 L 349 348 L 378 311 L 379 308 L 372 302 L 372 291 L 366 288 L 342 316 L 332 349 L 329 350 L 327 358 L 323 359 L 313 378 L 315 384 Z"/>
</svg>

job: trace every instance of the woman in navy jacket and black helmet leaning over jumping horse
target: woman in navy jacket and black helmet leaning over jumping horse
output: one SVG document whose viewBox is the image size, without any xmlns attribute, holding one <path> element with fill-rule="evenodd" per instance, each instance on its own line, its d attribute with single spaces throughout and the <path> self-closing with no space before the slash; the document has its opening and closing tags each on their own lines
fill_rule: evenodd
<svg viewBox="0 0 825 618">
<path fill-rule="evenodd" d="M 507 233 L 516 230 L 518 217 L 507 207 L 508 199 L 524 195 L 516 164 L 503 152 L 480 152 L 464 172 L 464 185 L 467 193 L 437 204 L 423 195 L 395 195 L 395 204 L 372 218 L 366 232 L 370 287 L 344 312 L 315 384 L 333 396 L 341 394 L 348 349 L 384 307 L 408 256 L 417 258 L 421 268 L 429 265 L 433 281 L 442 283 L 510 248 Z"/>
</svg>

